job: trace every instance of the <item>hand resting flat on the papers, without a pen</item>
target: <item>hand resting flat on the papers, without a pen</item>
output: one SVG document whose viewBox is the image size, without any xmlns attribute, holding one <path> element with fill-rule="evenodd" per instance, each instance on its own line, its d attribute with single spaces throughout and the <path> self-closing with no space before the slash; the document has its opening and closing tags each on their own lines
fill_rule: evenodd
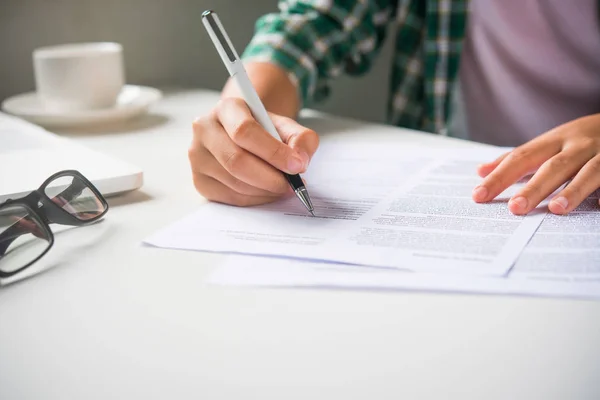
<svg viewBox="0 0 600 400">
<path fill-rule="evenodd" d="M 473 200 L 490 201 L 523 176 L 535 174 L 508 202 L 510 211 L 524 215 L 560 185 L 573 179 L 549 204 L 554 214 L 567 214 L 600 187 L 600 114 L 576 119 L 482 164 L 483 182 Z"/>
</svg>

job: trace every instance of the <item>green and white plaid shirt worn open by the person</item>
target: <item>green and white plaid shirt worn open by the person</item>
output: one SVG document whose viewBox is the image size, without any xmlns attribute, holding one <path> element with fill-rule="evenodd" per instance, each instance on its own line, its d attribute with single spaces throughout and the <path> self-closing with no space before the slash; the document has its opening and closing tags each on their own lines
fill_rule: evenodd
<svg viewBox="0 0 600 400">
<path fill-rule="evenodd" d="M 465 33 L 468 0 L 280 0 L 256 23 L 246 61 L 290 72 L 304 105 L 331 79 L 367 72 L 392 21 L 397 26 L 388 122 L 443 132 Z"/>
</svg>

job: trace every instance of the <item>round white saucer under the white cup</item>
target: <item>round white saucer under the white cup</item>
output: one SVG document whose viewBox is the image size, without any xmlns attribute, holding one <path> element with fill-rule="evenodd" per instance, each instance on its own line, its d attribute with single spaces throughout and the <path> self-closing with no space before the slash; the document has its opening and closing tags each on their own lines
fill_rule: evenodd
<svg viewBox="0 0 600 400">
<path fill-rule="evenodd" d="M 148 107 L 162 97 L 158 89 L 126 85 L 117 103 L 100 110 L 64 112 L 51 110 L 38 98 L 37 93 L 24 93 L 2 102 L 2 110 L 44 127 L 66 128 L 121 122 L 148 111 Z"/>
</svg>

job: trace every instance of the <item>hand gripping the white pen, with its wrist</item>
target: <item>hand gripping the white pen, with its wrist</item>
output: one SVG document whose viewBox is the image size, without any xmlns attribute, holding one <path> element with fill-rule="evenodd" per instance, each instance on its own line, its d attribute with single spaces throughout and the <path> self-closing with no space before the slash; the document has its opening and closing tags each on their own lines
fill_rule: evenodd
<svg viewBox="0 0 600 400">
<path fill-rule="evenodd" d="M 289 107 L 297 98 L 296 88 L 283 70 L 267 63 L 248 67 L 253 81 L 258 76 L 259 92 L 268 93 L 269 107 L 289 116 L 297 112 Z M 275 201 L 291 191 L 282 172 L 304 172 L 318 147 L 318 136 L 291 118 L 270 114 L 276 138 L 261 126 L 247 102 L 236 96 L 240 91 L 236 82 L 230 82 L 225 98 L 194 123 L 189 151 L 194 183 L 212 201 L 238 206 Z"/>
</svg>

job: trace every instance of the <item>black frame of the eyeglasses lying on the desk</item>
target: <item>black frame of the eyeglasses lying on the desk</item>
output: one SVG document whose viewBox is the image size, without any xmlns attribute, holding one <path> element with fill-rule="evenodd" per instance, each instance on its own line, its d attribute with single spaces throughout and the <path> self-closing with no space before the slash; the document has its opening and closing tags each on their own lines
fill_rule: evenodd
<svg viewBox="0 0 600 400">
<path fill-rule="evenodd" d="M 63 176 L 75 177 L 81 182 L 83 182 L 84 186 L 75 185 L 74 183 L 77 182 L 77 180 L 73 180 L 73 184 L 69 185 L 69 187 L 67 187 L 64 191 L 59 193 L 58 196 L 69 198 L 71 197 L 69 196 L 70 194 L 79 194 L 84 189 L 90 189 L 94 193 L 94 195 L 96 195 L 96 198 L 102 202 L 102 205 L 104 206 L 104 211 L 95 217 L 82 220 L 69 213 L 68 211 L 64 210 L 61 206 L 55 204 L 54 201 L 52 201 L 52 199 L 48 197 L 48 195 L 46 195 L 46 188 L 51 182 Z M 54 234 L 50 229 L 50 224 L 70 226 L 89 225 L 95 221 L 98 221 L 108 212 L 108 203 L 106 202 L 106 199 L 102 196 L 100 191 L 98 191 L 98 189 L 92 184 L 92 182 L 90 182 L 85 176 L 83 176 L 79 171 L 76 170 L 64 170 L 57 172 L 50 176 L 48 179 L 46 179 L 38 189 L 32 191 L 28 195 L 18 199 L 9 199 L 5 201 L 4 203 L 0 204 L 0 213 L 3 209 L 8 208 L 10 206 L 19 206 L 29 212 L 29 216 L 31 216 L 31 218 L 34 219 L 35 222 L 38 224 L 38 226 L 44 230 L 43 233 L 46 234 L 44 239 L 48 239 L 48 247 L 34 260 L 30 261 L 28 264 L 15 271 L 5 272 L 0 270 L 0 278 L 8 278 L 22 272 L 23 270 L 34 264 L 36 261 L 38 261 L 40 258 L 42 258 L 44 255 L 46 255 L 46 253 L 48 253 L 48 251 L 54 245 Z M 17 237 L 20 236 L 18 235 L 18 232 L 9 232 L 14 227 L 15 225 L 13 225 L 12 227 L 4 231 L 2 234 L 0 234 L 0 237 L 5 234 L 14 235 L 14 238 L 12 240 L 8 239 L 3 242 L 0 242 L 0 256 L 4 255 L 4 253 L 8 249 L 8 246 L 10 246 L 10 244 L 15 239 L 17 239 Z"/>
</svg>

